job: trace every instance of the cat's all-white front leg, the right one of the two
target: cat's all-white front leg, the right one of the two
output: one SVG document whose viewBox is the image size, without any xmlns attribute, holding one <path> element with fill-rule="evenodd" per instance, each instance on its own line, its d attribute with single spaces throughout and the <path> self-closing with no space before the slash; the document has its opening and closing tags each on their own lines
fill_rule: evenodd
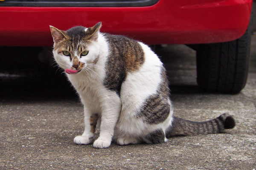
<svg viewBox="0 0 256 170">
<path fill-rule="evenodd" d="M 93 147 L 106 148 L 110 146 L 121 106 L 120 98 L 117 95 L 105 100 L 102 105 L 99 138 L 93 143 Z"/>
</svg>

